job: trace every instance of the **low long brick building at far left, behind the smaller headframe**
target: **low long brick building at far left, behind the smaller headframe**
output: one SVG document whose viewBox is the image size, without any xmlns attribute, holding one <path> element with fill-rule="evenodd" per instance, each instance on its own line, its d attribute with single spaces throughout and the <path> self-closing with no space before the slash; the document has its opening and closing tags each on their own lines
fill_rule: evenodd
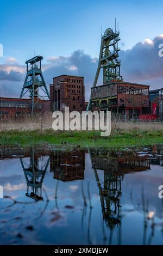
<svg viewBox="0 0 163 256">
<path fill-rule="evenodd" d="M 35 100 L 35 113 L 43 109 L 44 100 Z M 30 113 L 31 99 L 0 97 L 0 117 L 3 119 L 18 118 Z"/>
</svg>

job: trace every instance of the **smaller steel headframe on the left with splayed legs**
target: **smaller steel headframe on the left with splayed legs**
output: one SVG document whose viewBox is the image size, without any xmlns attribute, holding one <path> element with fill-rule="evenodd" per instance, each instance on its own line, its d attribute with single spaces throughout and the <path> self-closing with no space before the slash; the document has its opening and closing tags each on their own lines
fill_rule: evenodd
<svg viewBox="0 0 163 256">
<path fill-rule="evenodd" d="M 42 56 L 35 56 L 32 59 L 27 60 L 27 75 L 23 84 L 22 92 L 20 98 L 22 98 L 27 92 L 29 92 L 29 97 L 31 101 L 31 112 L 34 112 L 35 104 L 37 100 L 46 98 L 49 99 L 49 92 L 45 83 L 45 80 L 42 75 L 41 70 L 41 60 Z M 39 63 L 39 65 L 38 65 Z M 30 69 L 29 65 L 30 64 Z M 39 89 L 42 89 L 44 95 L 40 95 Z"/>
</svg>

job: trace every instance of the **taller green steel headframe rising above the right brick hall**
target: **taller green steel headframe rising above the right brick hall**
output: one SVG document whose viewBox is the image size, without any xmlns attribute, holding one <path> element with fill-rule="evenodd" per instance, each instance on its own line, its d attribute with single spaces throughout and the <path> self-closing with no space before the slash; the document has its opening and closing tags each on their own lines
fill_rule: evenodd
<svg viewBox="0 0 163 256">
<path fill-rule="evenodd" d="M 99 52 L 98 68 L 96 71 L 93 87 L 96 87 L 99 72 L 103 69 L 103 84 L 105 82 L 122 81 L 120 75 L 121 61 L 118 60 L 118 41 L 120 40 L 120 32 L 112 31 L 111 28 L 106 29 L 101 40 L 101 48 Z M 87 111 L 89 111 L 91 103 L 91 97 L 87 105 Z"/>
</svg>

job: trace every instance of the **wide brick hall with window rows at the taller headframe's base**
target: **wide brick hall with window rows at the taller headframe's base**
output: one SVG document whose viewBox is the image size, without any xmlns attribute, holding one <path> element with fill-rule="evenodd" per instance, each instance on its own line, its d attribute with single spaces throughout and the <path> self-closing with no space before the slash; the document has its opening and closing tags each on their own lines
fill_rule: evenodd
<svg viewBox="0 0 163 256">
<path fill-rule="evenodd" d="M 149 113 L 149 86 L 115 81 L 91 88 L 90 109 L 112 111 L 126 118 Z"/>
</svg>

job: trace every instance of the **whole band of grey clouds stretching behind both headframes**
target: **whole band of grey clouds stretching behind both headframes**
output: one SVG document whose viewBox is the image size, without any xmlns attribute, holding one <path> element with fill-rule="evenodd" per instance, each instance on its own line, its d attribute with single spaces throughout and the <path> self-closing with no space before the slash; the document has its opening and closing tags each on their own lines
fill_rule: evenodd
<svg viewBox="0 0 163 256">
<path fill-rule="evenodd" d="M 159 57 L 159 44 L 163 43 L 163 34 L 153 40 L 146 39 L 138 42 L 129 50 L 120 51 L 121 75 L 124 81 L 151 85 L 152 89 L 163 86 L 163 57 Z M 99 45 L 100 47 L 100 45 Z M 83 50 L 74 51 L 69 57 L 51 56 L 46 59 L 47 64 L 42 65 L 43 76 L 47 87 L 52 83 L 54 76 L 62 74 L 84 76 L 85 98 L 89 99 L 98 65 L 98 58 L 93 58 Z M 26 66 L 19 65 L 17 60 L 10 57 L 5 64 L 0 65 L 1 96 L 17 97 L 20 95 Z M 98 84 L 102 80 L 99 79 Z"/>
</svg>

